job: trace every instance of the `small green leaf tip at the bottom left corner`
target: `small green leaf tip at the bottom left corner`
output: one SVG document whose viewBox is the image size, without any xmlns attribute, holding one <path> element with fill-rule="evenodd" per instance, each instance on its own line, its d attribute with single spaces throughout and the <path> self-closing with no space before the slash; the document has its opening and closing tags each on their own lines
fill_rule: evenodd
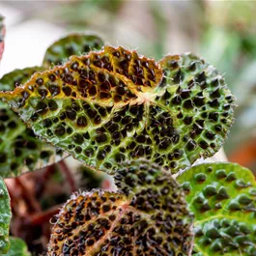
<svg viewBox="0 0 256 256">
<path fill-rule="evenodd" d="M 5 256 L 31 256 L 27 249 L 27 244 L 23 240 L 10 237 L 10 242 L 10 249 Z"/>
</svg>

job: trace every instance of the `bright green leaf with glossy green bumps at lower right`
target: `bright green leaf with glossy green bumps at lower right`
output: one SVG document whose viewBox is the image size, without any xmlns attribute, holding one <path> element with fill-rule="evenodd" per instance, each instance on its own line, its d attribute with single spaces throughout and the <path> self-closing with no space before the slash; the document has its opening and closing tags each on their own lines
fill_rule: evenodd
<svg viewBox="0 0 256 256">
<path fill-rule="evenodd" d="M 194 213 L 196 256 L 256 254 L 256 182 L 235 163 L 207 163 L 186 170 L 183 185 Z"/>
</svg>

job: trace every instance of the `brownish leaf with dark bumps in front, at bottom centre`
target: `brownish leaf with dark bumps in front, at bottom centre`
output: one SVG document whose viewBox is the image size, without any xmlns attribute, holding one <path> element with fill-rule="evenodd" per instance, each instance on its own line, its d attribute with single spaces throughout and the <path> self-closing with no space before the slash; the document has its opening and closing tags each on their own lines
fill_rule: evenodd
<svg viewBox="0 0 256 256">
<path fill-rule="evenodd" d="M 48 255 L 188 255 L 191 217 L 170 173 L 140 160 L 114 178 L 117 192 L 72 196 L 53 227 Z"/>
</svg>

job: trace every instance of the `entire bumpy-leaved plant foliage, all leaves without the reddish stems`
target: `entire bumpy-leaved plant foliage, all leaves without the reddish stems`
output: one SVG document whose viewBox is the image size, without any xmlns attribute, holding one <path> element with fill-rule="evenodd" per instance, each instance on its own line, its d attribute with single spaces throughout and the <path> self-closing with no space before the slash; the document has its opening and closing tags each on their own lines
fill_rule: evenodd
<svg viewBox="0 0 256 256">
<path fill-rule="evenodd" d="M 3 35 L 0 18 L 0 58 Z M 103 45 L 98 36 L 71 34 L 50 45 L 42 67 L 0 80 L 3 177 L 42 168 L 65 151 L 86 164 L 79 177 L 103 170 L 118 188 L 73 194 L 57 216 L 47 255 L 255 256 L 256 183 L 249 170 L 194 166 L 179 173 L 183 187 L 172 176 L 213 156 L 229 132 L 235 99 L 222 75 L 190 53 L 156 62 Z M 10 198 L 3 180 L 0 186 L 6 253 Z M 14 238 L 7 255 L 29 256 Z"/>
</svg>

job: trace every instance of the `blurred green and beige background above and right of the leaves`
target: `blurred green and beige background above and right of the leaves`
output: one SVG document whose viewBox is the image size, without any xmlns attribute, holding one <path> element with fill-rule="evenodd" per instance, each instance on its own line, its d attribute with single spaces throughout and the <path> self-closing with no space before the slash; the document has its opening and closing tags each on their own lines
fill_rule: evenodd
<svg viewBox="0 0 256 256">
<path fill-rule="evenodd" d="M 229 160 L 256 173 L 255 1 L 7 2 L 26 18 L 67 31 L 94 31 L 111 44 L 160 59 L 192 51 L 221 71 L 237 97 L 236 123 L 224 148 Z M 42 32 L 43 33 L 43 32 Z"/>
</svg>

